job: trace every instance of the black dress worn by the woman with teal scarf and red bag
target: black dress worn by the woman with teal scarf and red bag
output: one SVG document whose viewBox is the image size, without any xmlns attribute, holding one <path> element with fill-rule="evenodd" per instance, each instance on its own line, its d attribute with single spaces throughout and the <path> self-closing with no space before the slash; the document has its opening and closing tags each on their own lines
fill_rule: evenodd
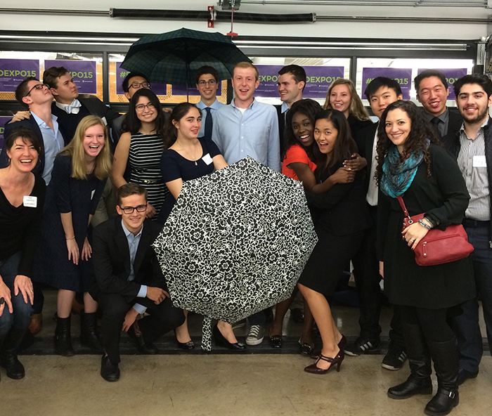
<svg viewBox="0 0 492 416">
<path fill-rule="evenodd" d="M 458 164 L 443 148 L 430 145 L 430 171 L 422 162 L 403 195 L 410 216 L 426 213 L 439 228 L 462 221 L 468 206 L 465 180 Z M 449 308 L 475 297 L 470 257 L 437 266 L 419 266 L 403 240 L 403 212 L 396 198 L 381 191 L 378 200 L 377 252 L 384 261 L 384 293 L 391 304 L 417 308 Z"/>
</svg>

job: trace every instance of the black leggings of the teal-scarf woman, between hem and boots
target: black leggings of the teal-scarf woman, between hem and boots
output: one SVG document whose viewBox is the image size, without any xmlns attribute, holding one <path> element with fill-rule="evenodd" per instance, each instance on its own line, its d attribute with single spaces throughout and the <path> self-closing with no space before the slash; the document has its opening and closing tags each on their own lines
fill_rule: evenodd
<svg viewBox="0 0 492 416">
<path fill-rule="evenodd" d="M 399 306 L 401 322 L 420 325 L 425 339 L 430 342 L 448 342 L 455 336 L 448 323 L 449 308 L 425 309 L 415 306 Z"/>
</svg>

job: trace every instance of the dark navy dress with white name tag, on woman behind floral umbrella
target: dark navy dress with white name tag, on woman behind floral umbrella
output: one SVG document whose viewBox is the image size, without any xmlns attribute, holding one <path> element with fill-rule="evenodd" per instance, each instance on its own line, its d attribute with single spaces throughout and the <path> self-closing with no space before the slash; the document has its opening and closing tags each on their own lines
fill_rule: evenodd
<svg viewBox="0 0 492 416">
<path fill-rule="evenodd" d="M 190 181 L 191 179 L 200 178 L 211 174 L 214 171 L 214 163 L 212 159 L 216 155 L 220 155 L 221 152 L 217 145 L 211 140 L 205 137 L 199 137 L 200 145 L 202 145 L 202 156 L 196 162 L 188 160 L 181 156 L 174 150 L 166 150 L 160 160 L 160 169 L 162 174 L 162 181 L 164 183 L 175 181 L 181 178 L 183 182 Z M 157 221 L 165 223 L 172 207 L 174 207 L 176 200 L 172 197 L 172 194 L 164 200 L 162 209 L 157 217 Z"/>
</svg>

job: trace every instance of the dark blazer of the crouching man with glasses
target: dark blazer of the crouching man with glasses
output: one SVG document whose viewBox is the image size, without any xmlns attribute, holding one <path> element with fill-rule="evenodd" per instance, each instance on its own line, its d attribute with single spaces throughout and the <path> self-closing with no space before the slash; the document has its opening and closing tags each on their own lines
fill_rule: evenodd
<svg viewBox="0 0 492 416">
<path fill-rule="evenodd" d="M 138 249 L 135 255 L 135 280 L 129 281 L 130 251 L 127 236 L 122 228 L 121 216 L 115 216 L 99 224 L 93 230 L 94 276 L 89 292 L 94 298 L 98 293 L 121 294 L 127 301 L 136 298 L 141 285 L 166 289 L 164 276 L 151 244 L 160 233 L 160 226 L 145 219 Z"/>
</svg>

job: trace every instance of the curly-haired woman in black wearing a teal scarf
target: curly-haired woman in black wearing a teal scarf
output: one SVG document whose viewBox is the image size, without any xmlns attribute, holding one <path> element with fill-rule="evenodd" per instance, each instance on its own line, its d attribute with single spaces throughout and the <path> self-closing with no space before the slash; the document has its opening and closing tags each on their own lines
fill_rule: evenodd
<svg viewBox="0 0 492 416">
<path fill-rule="evenodd" d="M 475 296 L 470 258 L 438 266 L 418 266 L 413 249 L 430 228 L 459 224 L 470 195 L 458 164 L 441 148 L 420 110 L 396 101 L 384 110 L 378 127 L 377 254 L 384 292 L 401 309 L 410 377 L 388 390 L 391 398 L 432 394 L 431 360 L 436 395 L 427 415 L 447 415 L 458 405 L 458 346 L 448 317 Z M 401 195 L 410 216 L 425 213 L 423 223 L 402 232 Z"/>
</svg>

